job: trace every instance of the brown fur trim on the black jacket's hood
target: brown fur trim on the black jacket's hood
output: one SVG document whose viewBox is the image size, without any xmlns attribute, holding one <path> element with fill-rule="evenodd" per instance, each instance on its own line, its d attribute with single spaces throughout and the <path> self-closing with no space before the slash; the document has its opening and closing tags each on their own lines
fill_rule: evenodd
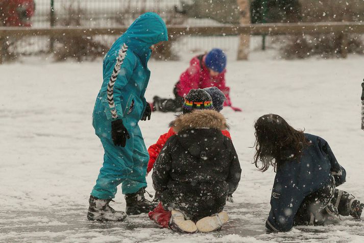
<svg viewBox="0 0 364 243">
<path fill-rule="evenodd" d="M 193 128 L 214 128 L 219 130 L 229 128 L 224 115 L 214 110 L 194 110 L 191 113 L 178 115 L 169 124 L 169 127 L 173 127 L 176 133 Z"/>
</svg>

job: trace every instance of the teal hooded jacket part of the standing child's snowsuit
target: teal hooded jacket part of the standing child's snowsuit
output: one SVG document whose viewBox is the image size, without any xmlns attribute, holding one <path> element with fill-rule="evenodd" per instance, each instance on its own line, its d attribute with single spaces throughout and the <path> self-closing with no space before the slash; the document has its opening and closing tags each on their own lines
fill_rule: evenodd
<svg viewBox="0 0 364 243">
<path fill-rule="evenodd" d="M 111 46 L 104 58 L 104 82 L 100 90 L 100 98 L 103 101 L 108 119 L 112 119 L 111 110 L 113 108 L 110 108 L 108 104 L 107 85 L 113 73 L 120 48 L 125 44 L 127 52 L 113 86 L 113 101 L 117 118 L 124 118 L 131 113 L 132 109 L 136 110 L 136 112 L 133 112 L 133 124 L 136 125 L 146 104 L 144 93 L 150 77 L 150 71 L 147 67 L 151 55 L 149 47 L 166 40 L 168 40 L 167 28 L 161 17 L 156 13 L 144 13 Z M 138 114 L 139 116 L 137 116 Z"/>
</svg>

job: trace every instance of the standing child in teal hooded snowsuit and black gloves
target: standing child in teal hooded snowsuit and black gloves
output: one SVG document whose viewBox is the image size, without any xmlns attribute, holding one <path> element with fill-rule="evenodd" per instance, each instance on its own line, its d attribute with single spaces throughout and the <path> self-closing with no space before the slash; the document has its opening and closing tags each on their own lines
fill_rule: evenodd
<svg viewBox="0 0 364 243">
<path fill-rule="evenodd" d="M 145 101 L 151 46 L 167 41 L 167 28 L 156 13 L 140 15 L 111 46 L 103 62 L 103 84 L 96 98 L 92 125 L 105 154 L 96 185 L 89 199 L 89 220 L 123 220 L 124 212 L 109 206 L 116 187 L 122 184 L 127 214 L 149 212 L 153 205 L 144 198 L 149 155 L 138 122 L 150 119 Z"/>
</svg>

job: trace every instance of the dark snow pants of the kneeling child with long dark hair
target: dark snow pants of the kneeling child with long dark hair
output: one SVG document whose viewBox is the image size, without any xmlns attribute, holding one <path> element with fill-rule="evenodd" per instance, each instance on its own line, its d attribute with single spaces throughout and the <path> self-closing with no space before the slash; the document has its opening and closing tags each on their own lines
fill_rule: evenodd
<svg viewBox="0 0 364 243">
<path fill-rule="evenodd" d="M 348 216 L 354 198 L 349 192 L 335 188 L 332 179 L 328 185 L 304 199 L 296 213 L 294 225 L 323 225 L 332 221 L 332 214 Z"/>
</svg>

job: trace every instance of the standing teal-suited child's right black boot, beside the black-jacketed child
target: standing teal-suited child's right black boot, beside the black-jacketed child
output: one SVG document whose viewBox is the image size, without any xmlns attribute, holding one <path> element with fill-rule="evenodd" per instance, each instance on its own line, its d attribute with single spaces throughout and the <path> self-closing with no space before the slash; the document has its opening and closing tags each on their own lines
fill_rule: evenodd
<svg viewBox="0 0 364 243">
<path fill-rule="evenodd" d="M 145 187 L 140 188 L 135 193 L 125 195 L 125 201 L 127 203 L 126 212 L 128 215 L 136 215 L 140 213 L 148 213 L 155 208 L 155 204 L 148 201 L 144 197 Z"/>
</svg>

